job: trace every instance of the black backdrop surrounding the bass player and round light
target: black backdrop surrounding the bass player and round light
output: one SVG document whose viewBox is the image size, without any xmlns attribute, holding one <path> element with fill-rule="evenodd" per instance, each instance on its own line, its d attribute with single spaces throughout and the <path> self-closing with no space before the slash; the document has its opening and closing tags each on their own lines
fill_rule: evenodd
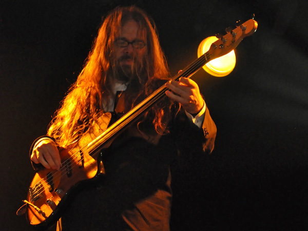
<svg viewBox="0 0 308 231">
<path fill-rule="evenodd" d="M 170 70 L 207 36 L 256 14 L 224 78 L 200 86 L 217 128 L 213 155 L 174 166 L 171 230 L 307 230 L 308 33 L 304 0 L 8 1 L 0 3 L 2 230 L 31 230 L 15 212 L 33 178 L 32 141 L 82 69 L 101 17 L 136 4 L 155 20 Z"/>
</svg>

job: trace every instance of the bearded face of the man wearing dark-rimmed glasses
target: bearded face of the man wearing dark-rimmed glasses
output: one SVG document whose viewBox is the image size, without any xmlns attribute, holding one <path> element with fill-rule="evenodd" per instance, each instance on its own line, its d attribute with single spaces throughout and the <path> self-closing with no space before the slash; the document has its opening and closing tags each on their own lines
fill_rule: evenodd
<svg viewBox="0 0 308 231">
<path fill-rule="evenodd" d="M 119 64 L 118 73 L 123 73 L 125 76 L 116 77 L 123 81 L 131 78 L 135 74 L 136 65 L 142 62 L 145 52 L 145 40 L 138 24 L 133 20 L 126 22 L 114 42 L 115 59 Z"/>
</svg>

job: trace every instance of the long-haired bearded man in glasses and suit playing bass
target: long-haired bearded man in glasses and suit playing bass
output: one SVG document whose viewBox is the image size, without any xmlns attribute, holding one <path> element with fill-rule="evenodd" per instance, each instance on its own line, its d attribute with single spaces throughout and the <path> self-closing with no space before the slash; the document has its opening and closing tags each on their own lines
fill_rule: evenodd
<svg viewBox="0 0 308 231">
<path fill-rule="evenodd" d="M 169 230 L 170 164 L 181 153 L 210 153 L 216 137 L 198 85 L 169 80 L 146 13 L 134 6 L 111 11 L 47 136 L 33 143 L 34 169 L 60 169 L 59 147 L 73 145 L 102 113 L 117 120 L 164 84 L 167 97 L 105 148 L 106 177 L 78 189 L 58 229 Z"/>
</svg>

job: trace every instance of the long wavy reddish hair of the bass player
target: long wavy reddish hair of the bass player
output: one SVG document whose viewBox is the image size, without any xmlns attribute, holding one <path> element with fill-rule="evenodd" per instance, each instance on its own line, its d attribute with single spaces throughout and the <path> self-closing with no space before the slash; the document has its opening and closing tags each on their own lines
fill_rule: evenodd
<svg viewBox="0 0 308 231">
<path fill-rule="evenodd" d="M 131 83 L 126 91 L 130 91 L 125 101 L 133 107 L 152 93 L 160 84 L 170 78 L 165 56 L 159 44 L 156 26 L 147 14 L 138 7 L 117 7 L 103 21 L 98 36 L 85 61 L 78 79 L 69 88 L 68 93 L 55 112 L 48 135 L 53 137 L 62 147 L 67 147 L 77 140 L 95 121 L 98 113 L 104 111 L 102 102 L 109 100 L 111 83 L 108 76 L 114 76 L 116 65 L 113 57 L 113 44 L 125 22 L 134 20 L 142 34 L 146 36 L 145 58 L 141 71 L 137 70 L 138 78 Z M 166 131 L 166 121 L 172 102 L 154 106 L 145 117 L 150 118 L 158 133 Z"/>
</svg>

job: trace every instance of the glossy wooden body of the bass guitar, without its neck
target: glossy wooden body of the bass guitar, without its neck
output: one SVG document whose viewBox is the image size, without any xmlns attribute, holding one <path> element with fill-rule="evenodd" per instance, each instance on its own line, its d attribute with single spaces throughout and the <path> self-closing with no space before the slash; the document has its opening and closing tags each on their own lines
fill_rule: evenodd
<svg viewBox="0 0 308 231">
<path fill-rule="evenodd" d="M 39 170 L 28 189 L 27 219 L 37 229 L 45 229 L 60 218 L 62 205 L 68 195 L 81 182 L 103 175 L 104 166 L 98 162 L 99 150 L 87 148 L 102 131 L 106 130 L 111 119 L 104 113 L 71 149 L 60 150 L 62 167 L 60 170 L 44 168 Z"/>
</svg>

